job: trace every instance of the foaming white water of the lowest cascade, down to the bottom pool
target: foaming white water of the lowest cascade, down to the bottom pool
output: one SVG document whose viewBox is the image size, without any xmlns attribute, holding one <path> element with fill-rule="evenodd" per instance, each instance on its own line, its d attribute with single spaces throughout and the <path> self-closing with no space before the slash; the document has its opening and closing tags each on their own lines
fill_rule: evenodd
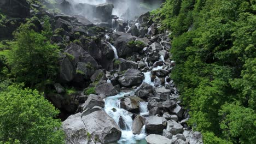
<svg viewBox="0 0 256 144">
<path fill-rule="evenodd" d="M 118 141 L 118 143 L 127 143 L 127 144 L 132 144 L 136 143 L 137 140 L 143 140 L 147 136 L 145 133 L 145 127 L 142 128 L 141 134 L 139 135 L 133 135 L 132 134 L 132 118 L 130 112 L 121 109 L 120 108 L 120 98 L 124 97 L 125 94 L 129 93 L 119 93 L 118 95 L 112 96 L 112 97 L 107 97 L 105 100 L 105 107 L 104 110 L 110 117 L 114 119 L 114 121 L 118 124 L 119 117 L 123 117 L 125 124 L 126 124 L 126 130 L 122 130 L 122 136 L 121 139 Z M 141 103 L 142 104 L 142 103 Z M 143 111 L 146 111 L 144 108 L 144 103 L 142 104 Z M 115 109 L 117 111 L 113 111 L 112 109 Z"/>
</svg>

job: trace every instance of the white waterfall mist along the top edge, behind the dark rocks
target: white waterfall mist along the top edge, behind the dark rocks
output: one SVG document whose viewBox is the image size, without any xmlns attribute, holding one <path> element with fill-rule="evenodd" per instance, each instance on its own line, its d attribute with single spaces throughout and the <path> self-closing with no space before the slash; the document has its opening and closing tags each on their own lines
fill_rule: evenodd
<svg viewBox="0 0 256 144">
<path fill-rule="evenodd" d="M 103 3 L 112 3 L 114 9 L 112 15 L 117 15 L 124 20 L 136 19 L 139 15 L 147 11 L 159 8 L 162 0 L 66 0 L 74 5 L 72 12 L 80 14 L 92 20 L 95 17 L 95 11 L 86 7 L 87 4 L 98 5 Z M 83 8 L 84 7 L 84 8 Z"/>
</svg>

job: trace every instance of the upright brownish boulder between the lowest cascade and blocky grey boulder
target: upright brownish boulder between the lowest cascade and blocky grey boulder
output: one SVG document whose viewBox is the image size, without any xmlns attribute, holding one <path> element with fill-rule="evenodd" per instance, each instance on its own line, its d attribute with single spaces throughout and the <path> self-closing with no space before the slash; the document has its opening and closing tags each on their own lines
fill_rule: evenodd
<svg viewBox="0 0 256 144">
<path fill-rule="evenodd" d="M 133 135 L 139 135 L 141 134 L 141 129 L 143 125 L 145 124 L 146 118 L 137 115 L 132 122 L 132 134 Z"/>
</svg>

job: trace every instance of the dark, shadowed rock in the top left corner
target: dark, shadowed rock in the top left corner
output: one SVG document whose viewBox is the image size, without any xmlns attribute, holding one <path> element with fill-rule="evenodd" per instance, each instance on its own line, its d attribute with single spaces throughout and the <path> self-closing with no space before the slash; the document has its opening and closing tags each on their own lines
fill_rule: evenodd
<svg viewBox="0 0 256 144">
<path fill-rule="evenodd" d="M 30 5 L 26 0 L 1 0 L 0 11 L 11 17 L 26 18 L 30 16 Z"/>
</svg>

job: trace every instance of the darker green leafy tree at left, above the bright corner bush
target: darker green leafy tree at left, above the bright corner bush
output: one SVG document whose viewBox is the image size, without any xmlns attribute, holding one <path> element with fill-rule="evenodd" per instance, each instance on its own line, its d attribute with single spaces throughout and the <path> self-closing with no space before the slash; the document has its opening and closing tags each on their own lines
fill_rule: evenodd
<svg viewBox="0 0 256 144">
<path fill-rule="evenodd" d="M 20 26 L 15 39 L 10 64 L 17 81 L 33 87 L 44 80 L 54 79 L 58 70 L 57 46 L 50 44 L 44 35 L 34 32 L 29 24 Z"/>
</svg>

